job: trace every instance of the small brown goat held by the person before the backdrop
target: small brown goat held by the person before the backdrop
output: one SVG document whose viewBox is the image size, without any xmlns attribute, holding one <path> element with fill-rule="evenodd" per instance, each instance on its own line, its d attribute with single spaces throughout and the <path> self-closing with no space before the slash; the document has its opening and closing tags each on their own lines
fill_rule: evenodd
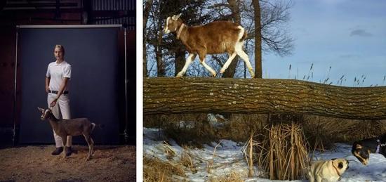
<svg viewBox="0 0 386 182">
<path fill-rule="evenodd" d="M 91 138 L 91 132 L 95 128 L 95 123 L 90 122 L 87 118 L 56 119 L 50 109 L 45 110 L 38 107 L 38 110 L 41 111 L 40 119 L 42 121 L 48 119 L 55 134 L 58 134 L 58 136 L 62 138 L 63 146 L 67 143 L 67 136 L 83 135 L 88 144 L 88 156 L 86 160 L 90 160 L 94 150 L 94 141 L 93 138 Z M 63 154 L 65 158 L 66 151 L 63 152 Z"/>
</svg>

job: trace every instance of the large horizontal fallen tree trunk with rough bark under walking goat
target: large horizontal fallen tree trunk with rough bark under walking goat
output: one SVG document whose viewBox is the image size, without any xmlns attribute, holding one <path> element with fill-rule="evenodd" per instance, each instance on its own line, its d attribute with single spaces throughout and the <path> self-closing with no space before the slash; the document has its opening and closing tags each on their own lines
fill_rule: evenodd
<svg viewBox="0 0 386 182">
<path fill-rule="evenodd" d="M 293 79 L 145 78 L 143 113 L 309 113 L 386 119 L 386 87 L 351 88 Z"/>
</svg>

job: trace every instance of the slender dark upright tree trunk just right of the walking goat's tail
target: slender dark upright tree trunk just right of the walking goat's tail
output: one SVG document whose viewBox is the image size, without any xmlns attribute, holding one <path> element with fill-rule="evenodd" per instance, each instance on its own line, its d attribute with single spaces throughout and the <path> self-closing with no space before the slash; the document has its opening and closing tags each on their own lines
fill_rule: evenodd
<svg viewBox="0 0 386 182">
<path fill-rule="evenodd" d="M 261 15 L 259 0 L 253 0 L 255 9 L 255 78 L 262 78 Z"/>
</svg>

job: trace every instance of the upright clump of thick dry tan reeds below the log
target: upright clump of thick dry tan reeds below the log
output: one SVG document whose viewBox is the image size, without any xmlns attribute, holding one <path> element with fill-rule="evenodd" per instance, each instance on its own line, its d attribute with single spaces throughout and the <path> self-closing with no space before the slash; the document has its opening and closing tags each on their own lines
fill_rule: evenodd
<svg viewBox="0 0 386 182">
<path fill-rule="evenodd" d="M 258 166 L 267 172 L 269 179 L 296 180 L 304 176 L 309 151 L 299 124 L 271 126 L 262 138 L 255 155 Z"/>
</svg>

